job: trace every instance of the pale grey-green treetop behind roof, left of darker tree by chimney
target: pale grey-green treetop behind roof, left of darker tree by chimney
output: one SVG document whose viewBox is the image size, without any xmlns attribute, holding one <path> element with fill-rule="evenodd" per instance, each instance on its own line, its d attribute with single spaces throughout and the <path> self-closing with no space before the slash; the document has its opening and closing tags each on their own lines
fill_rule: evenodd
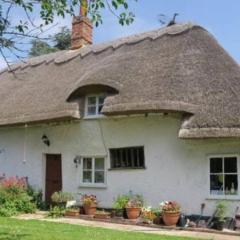
<svg viewBox="0 0 240 240">
<path fill-rule="evenodd" d="M 34 39 L 31 41 L 32 47 L 29 52 L 30 57 L 37 57 L 40 55 L 56 52 L 57 49 L 51 47 L 47 42 L 39 39 Z"/>
</svg>

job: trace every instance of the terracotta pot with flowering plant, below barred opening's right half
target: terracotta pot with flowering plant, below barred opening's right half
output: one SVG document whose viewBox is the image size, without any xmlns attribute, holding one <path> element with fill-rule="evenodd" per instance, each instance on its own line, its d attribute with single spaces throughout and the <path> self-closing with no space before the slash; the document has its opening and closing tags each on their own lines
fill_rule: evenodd
<svg viewBox="0 0 240 240">
<path fill-rule="evenodd" d="M 125 206 L 128 219 L 137 219 L 140 216 L 142 207 L 143 207 L 142 196 L 133 195 Z"/>
</svg>

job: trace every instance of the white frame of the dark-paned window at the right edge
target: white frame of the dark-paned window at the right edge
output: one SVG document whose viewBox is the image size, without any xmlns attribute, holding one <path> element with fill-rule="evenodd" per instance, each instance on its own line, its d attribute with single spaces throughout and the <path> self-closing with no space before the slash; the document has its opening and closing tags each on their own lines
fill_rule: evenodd
<svg viewBox="0 0 240 240">
<path fill-rule="evenodd" d="M 237 180 L 238 180 L 238 190 L 236 195 L 226 195 L 225 193 L 223 195 L 218 195 L 218 194 L 211 194 L 211 189 L 210 189 L 210 160 L 212 158 L 228 158 L 228 157 L 233 157 L 237 159 Z M 240 157 L 239 154 L 209 154 L 207 155 L 207 164 L 208 164 L 208 199 L 219 199 L 219 200 L 239 200 L 240 199 Z M 223 161 L 223 167 L 224 167 L 224 161 Z M 224 168 L 223 168 L 223 175 L 228 174 L 225 173 Z M 229 173 L 230 174 L 230 173 Z"/>
</svg>

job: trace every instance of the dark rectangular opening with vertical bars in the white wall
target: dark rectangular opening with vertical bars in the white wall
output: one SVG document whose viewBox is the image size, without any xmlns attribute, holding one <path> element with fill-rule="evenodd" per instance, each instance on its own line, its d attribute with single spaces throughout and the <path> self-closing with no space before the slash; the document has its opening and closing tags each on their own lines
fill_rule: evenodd
<svg viewBox="0 0 240 240">
<path fill-rule="evenodd" d="M 144 147 L 110 149 L 112 169 L 144 168 Z"/>
</svg>

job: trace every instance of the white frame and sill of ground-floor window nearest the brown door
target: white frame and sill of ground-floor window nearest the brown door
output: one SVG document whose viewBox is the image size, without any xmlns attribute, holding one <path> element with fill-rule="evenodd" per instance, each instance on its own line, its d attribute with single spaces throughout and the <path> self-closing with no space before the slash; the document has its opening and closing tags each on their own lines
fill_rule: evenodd
<svg viewBox="0 0 240 240">
<path fill-rule="evenodd" d="M 85 183 L 83 182 L 83 159 L 84 158 L 91 158 L 92 160 L 92 182 Z M 104 183 L 95 183 L 95 159 L 102 158 L 104 160 Z M 93 161 L 94 159 L 94 161 Z M 89 187 L 89 188 L 106 188 L 107 186 L 107 168 L 106 168 L 106 156 L 103 155 L 96 155 L 96 156 L 81 156 L 81 168 L 80 168 L 80 187 Z"/>
</svg>

